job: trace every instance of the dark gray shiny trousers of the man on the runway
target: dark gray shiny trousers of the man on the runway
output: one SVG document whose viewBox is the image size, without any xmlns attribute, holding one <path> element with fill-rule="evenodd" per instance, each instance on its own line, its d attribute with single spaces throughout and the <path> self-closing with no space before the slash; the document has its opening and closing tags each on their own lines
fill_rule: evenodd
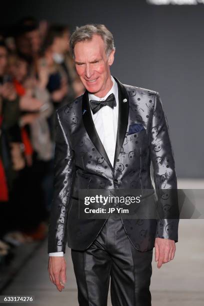
<svg viewBox="0 0 204 306">
<path fill-rule="evenodd" d="M 150 306 L 153 250 L 131 244 L 119 216 L 106 220 L 84 251 L 71 249 L 80 306 L 106 306 L 110 280 L 112 306 Z"/>
</svg>

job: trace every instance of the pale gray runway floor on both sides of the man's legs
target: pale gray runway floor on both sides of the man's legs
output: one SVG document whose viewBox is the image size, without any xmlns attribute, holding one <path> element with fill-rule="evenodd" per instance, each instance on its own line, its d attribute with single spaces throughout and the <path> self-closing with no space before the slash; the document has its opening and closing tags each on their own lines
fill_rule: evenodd
<svg viewBox="0 0 204 306">
<path fill-rule="evenodd" d="M 203 219 L 181 219 L 174 259 L 158 269 L 153 251 L 150 285 L 152 306 L 203 306 L 203 233 Z M 34 304 L 40 306 L 78 305 L 70 250 L 66 248 L 65 254 L 67 283 L 65 289 L 59 292 L 48 277 L 46 248 L 45 240 L 1 294 L 34 295 Z M 108 306 L 111 306 L 109 296 Z"/>
</svg>

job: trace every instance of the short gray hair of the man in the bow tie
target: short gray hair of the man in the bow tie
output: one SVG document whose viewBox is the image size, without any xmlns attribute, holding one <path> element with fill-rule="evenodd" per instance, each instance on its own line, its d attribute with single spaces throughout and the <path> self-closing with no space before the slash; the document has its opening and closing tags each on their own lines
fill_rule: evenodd
<svg viewBox="0 0 204 306">
<path fill-rule="evenodd" d="M 100 35 L 105 44 L 105 53 L 108 56 L 112 50 L 115 50 L 112 33 L 104 24 L 85 24 L 76 26 L 75 31 L 71 34 L 69 46 L 71 55 L 74 58 L 74 46 L 79 41 L 91 40 L 92 36 Z"/>
</svg>

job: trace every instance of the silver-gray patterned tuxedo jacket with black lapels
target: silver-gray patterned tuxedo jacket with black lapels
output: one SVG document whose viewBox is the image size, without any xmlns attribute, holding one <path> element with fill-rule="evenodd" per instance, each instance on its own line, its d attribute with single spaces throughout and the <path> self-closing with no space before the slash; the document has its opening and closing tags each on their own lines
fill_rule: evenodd
<svg viewBox="0 0 204 306">
<path fill-rule="evenodd" d="M 150 164 L 158 197 L 163 196 L 159 190 L 177 188 L 173 152 L 159 93 L 114 79 L 118 85 L 119 105 L 113 166 L 94 127 L 87 90 L 56 110 L 48 253 L 65 252 L 66 243 L 72 249 L 86 249 L 106 221 L 105 218 L 78 218 L 79 189 L 137 188 L 141 192 L 154 189 Z M 142 128 L 135 131 L 134 126 Z M 175 242 L 178 239 L 178 218 L 123 218 L 122 223 L 139 251 L 152 249 L 155 237 Z"/>
</svg>

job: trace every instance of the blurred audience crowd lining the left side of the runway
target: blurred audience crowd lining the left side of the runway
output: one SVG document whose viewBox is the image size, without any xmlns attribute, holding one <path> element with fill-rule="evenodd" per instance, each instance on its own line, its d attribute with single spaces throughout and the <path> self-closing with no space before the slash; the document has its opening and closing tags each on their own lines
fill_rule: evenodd
<svg viewBox="0 0 204 306">
<path fill-rule="evenodd" d="M 0 266 L 47 233 L 55 109 L 84 91 L 69 35 L 33 17 L 0 26 Z"/>
</svg>

